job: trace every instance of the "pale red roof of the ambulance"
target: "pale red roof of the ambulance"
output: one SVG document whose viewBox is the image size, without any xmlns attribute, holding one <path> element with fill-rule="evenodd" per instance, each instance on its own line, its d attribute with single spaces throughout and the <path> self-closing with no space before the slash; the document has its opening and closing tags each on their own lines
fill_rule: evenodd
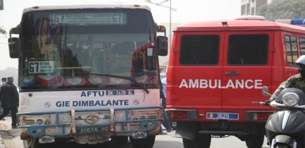
<svg viewBox="0 0 305 148">
<path fill-rule="evenodd" d="M 305 27 L 267 20 L 210 20 L 186 22 L 175 31 L 287 30 L 305 34 Z"/>
</svg>

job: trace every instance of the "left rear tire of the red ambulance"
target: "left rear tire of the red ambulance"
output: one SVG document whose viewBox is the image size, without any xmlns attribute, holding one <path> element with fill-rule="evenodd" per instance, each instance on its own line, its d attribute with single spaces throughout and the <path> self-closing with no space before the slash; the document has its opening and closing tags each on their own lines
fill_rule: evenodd
<svg viewBox="0 0 305 148">
<path fill-rule="evenodd" d="M 184 148 L 210 148 L 211 135 L 196 133 L 194 139 L 182 138 Z"/>
</svg>

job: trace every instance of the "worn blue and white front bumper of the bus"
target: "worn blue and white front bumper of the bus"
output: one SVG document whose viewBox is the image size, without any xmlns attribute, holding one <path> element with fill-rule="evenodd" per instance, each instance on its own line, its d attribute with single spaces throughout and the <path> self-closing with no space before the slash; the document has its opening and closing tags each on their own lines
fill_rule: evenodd
<svg viewBox="0 0 305 148">
<path fill-rule="evenodd" d="M 21 140 L 52 143 L 56 138 L 73 138 L 79 144 L 96 144 L 111 136 L 157 135 L 162 117 L 162 107 L 17 113 L 17 128 L 22 129 Z"/>
</svg>

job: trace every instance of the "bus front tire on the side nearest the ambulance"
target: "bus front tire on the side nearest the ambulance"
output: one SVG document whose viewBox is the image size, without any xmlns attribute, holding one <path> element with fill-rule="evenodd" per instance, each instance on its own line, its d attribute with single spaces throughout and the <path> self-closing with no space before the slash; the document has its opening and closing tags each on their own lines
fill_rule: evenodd
<svg viewBox="0 0 305 148">
<path fill-rule="evenodd" d="M 152 148 L 155 136 L 147 136 L 147 138 L 144 139 L 133 139 L 133 137 L 130 136 L 129 139 L 134 148 Z"/>
</svg>

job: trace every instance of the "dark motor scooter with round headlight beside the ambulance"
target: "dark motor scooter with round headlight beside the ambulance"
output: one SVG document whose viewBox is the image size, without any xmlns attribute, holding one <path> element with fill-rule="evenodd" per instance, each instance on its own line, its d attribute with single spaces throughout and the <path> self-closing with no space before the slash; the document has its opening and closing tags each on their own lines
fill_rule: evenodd
<svg viewBox="0 0 305 148">
<path fill-rule="evenodd" d="M 270 95 L 268 87 L 263 95 Z M 305 93 L 297 88 L 285 88 L 273 101 L 261 105 L 276 107 L 267 120 L 265 130 L 270 148 L 305 148 Z"/>
</svg>

